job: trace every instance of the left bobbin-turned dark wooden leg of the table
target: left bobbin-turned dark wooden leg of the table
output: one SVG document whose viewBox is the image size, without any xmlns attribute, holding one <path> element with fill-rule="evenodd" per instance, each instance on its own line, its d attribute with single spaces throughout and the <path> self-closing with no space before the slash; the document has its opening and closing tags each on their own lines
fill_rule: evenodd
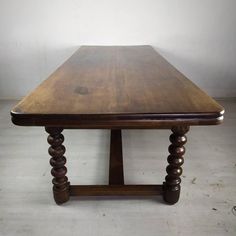
<svg viewBox="0 0 236 236">
<path fill-rule="evenodd" d="M 45 130 L 49 133 L 47 140 L 51 145 L 48 153 L 52 156 L 50 164 L 52 166 L 51 174 L 54 177 L 52 180 L 54 200 L 57 204 L 62 204 L 69 200 L 69 182 L 66 177 L 66 158 L 64 156 L 66 149 L 62 145 L 64 136 L 61 134 L 63 129 L 46 127 Z"/>
</svg>

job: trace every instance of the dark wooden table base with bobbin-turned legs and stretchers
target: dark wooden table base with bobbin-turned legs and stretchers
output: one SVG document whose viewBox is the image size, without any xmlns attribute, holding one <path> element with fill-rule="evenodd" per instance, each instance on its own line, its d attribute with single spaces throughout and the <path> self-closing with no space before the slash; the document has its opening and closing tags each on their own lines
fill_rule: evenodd
<svg viewBox="0 0 236 236">
<path fill-rule="evenodd" d="M 111 130 L 110 141 L 110 168 L 109 185 L 70 185 L 66 176 L 66 158 L 64 156 L 65 147 L 62 145 L 64 136 L 61 127 L 46 127 L 49 133 L 48 143 L 51 174 L 54 177 L 53 195 L 57 204 L 65 203 L 70 196 L 155 196 L 162 195 L 168 204 L 175 204 L 180 195 L 180 176 L 182 174 L 183 155 L 185 153 L 184 144 L 187 141 L 185 134 L 188 126 L 172 127 L 170 135 L 171 145 L 170 155 L 167 158 L 167 175 L 162 185 L 125 185 L 123 154 L 122 154 L 122 134 L 120 129 Z"/>
</svg>

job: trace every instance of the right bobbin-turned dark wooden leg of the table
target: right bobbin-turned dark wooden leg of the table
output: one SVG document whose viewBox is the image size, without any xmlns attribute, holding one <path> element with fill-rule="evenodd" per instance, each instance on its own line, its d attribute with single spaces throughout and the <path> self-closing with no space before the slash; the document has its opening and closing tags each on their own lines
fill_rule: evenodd
<svg viewBox="0 0 236 236">
<path fill-rule="evenodd" d="M 187 142 L 185 134 L 189 131 L 189 127 L 177 126 L 173 127 L 171 130 L 173 133 L 170 135 L 170 155 L 167 158 L 169 165 L 166 168 L 167 176 L 163 185 L 163 198 L 167 203 L 175 204 L 178 202 L 180 195 L 181 165 L 184 163 L 184 144 Z"/>
</svg>

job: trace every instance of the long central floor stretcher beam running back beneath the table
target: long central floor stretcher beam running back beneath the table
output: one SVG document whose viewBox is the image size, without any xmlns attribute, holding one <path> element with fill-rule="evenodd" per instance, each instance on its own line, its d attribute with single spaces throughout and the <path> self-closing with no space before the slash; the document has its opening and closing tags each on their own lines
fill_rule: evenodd
<svg viewBox="0 0 236 236">
<path fill-rule="evenodd" d="M 114 184 L 124 184 L 121 130 L 111 130 L 109 185 Z"/>
</svg>

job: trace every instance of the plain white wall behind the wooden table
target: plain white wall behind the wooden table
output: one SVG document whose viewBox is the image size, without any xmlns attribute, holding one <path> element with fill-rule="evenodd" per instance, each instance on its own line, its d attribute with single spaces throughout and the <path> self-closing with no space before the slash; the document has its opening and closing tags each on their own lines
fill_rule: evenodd
<svg viewBox="0 0 236 236">
<path fill-rule="evenodd" d="M 236 0 L 0 0 L 0 98 L 83 44 L 150 44 L 210 95 L 236 96 Z"/>
</svg>

